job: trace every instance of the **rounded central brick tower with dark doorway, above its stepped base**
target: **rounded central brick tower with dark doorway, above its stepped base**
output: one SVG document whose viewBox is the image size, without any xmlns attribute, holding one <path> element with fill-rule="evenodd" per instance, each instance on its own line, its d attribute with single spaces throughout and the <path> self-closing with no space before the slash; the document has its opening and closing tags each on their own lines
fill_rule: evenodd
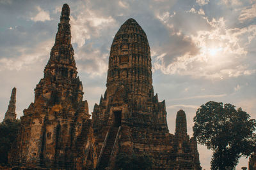
<svg viewBox="0 0 256 170">
<path fill-rule="evenodd" d="M 93 111 L 93 121 L 101 122 L 95 131 L 121 125 L 168 131 L 164 101 L 159 103 L 154 96 L 148 39 L 132 18 L 120 27 L 111 45 L 106 87 Z"/>
</svg>

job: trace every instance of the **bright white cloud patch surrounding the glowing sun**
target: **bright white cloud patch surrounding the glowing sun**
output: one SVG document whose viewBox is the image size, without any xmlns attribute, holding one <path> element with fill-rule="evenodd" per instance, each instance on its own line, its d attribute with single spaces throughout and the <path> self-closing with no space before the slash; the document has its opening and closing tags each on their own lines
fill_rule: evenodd
<svg viewBox="0 0 256 170">
<path fill-rule="evenodd" d="M 196 13 L 192 8 L 190 10 Z M 170 60 L 168 53 L 156 53 L 154 70 L 160 69 L 164 74 L 191 75 L 195 78 L 223 79 L 255 73 L 256 69 L 249 69 L 243 64 L 248 53 L 246 45 L 252 42 L 256 36 L 256 25 L 249 27 L 228 28 L 225 20 L 204 17 L 211 25 L 210 30 L 196 31 L 196 34 L 184 38 L 191 39 L 199 53 L 193 54 L 187 51 Z M 243 41 L 243 43 L 241 43 Z M 169 63 L 166 60 L 170 60 Z"/>
</svg>

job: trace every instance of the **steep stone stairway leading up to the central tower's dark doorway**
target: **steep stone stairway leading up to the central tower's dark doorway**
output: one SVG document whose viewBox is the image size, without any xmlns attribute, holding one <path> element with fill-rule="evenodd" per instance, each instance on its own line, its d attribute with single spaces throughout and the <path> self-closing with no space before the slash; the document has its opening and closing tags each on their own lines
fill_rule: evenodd
<svg viewBox="0 0 256 170">
<path fill-rule="evenodd" d="M 109 130 L 106 147 L 104 148 L 104 151 L 102 153 L 102 157 L 100 159 L 99 166 L 97 169 L 105 169 L 106 167 L 108 167 L 109 158 L 113 150 L 117 132 L 118 132 L 118 127 L 111 127 L 111 129 Z"/>
</svg>

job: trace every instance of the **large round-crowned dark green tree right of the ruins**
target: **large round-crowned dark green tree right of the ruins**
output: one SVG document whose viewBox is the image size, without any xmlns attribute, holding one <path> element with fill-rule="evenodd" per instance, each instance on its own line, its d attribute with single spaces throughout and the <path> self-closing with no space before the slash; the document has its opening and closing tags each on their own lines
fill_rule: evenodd
<svg viewBox="0 0 256 170">
<path fill-rule="evenodd" d="M 212 169 L 232 169 L 255 148 L 255 119 L 232 104 L 209 101 L 198 108 L 194 123 L 198 143 L 213 151 Z"/>
</svg>

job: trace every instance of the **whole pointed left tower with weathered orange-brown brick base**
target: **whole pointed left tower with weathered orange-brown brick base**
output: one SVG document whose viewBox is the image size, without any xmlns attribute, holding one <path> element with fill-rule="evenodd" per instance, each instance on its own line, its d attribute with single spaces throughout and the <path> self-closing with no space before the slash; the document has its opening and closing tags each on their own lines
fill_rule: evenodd
<svg viewBox="0 0 256 170">
<path fill-rule="evenodd" d="M 21 117 L 17 152 L 10 162 L 18 166 L 88 169 L 96 165 L 88 103 L 77 77 L 70 43 L 69 7 L 63 5 L 58 32 L 44 78 L 35 88 L 35 101 Z"/>
</svg>

